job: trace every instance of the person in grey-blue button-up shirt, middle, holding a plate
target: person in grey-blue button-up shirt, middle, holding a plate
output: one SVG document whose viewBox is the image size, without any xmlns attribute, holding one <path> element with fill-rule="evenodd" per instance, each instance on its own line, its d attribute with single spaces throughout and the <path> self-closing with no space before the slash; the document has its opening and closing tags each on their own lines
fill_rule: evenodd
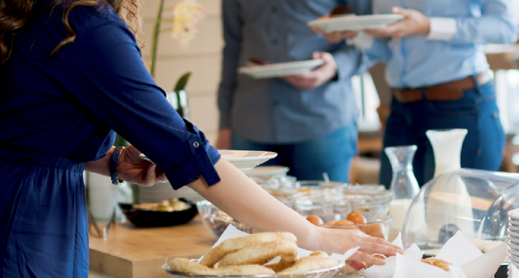
<svg viewBox="0 0 519 278">
<path fill-rule="evenodd" d="M 357 47 L 330 43 L 307 22 L 338 5 L 371 12 L 363 0 L 223 0 L 225 47 L 218 90 L 218 149 L 274 151 L 299 180 L 348 181 L 357 153 L 357 101 L 351 77 L 370 63 Z M 270 63 L 321 58 L 301 75 L 254 79 L 238 74 L 251 59 Z"/>
</svg>

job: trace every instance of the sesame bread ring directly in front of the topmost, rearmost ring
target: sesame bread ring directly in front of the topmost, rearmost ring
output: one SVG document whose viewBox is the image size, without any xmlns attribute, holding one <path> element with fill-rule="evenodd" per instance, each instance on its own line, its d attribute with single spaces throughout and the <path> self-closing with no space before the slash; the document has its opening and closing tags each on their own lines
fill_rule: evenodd
<svg viewBox="0 0 519 278">
<path fill-rule="evenodd" d="M 234 253 L 225 255 L 218 263 L 218 266 L 264 264 L 278 256 L 281 257 L 281 261 L 284 263 L 295 261 L 297 258 L 297 244 L 286 240 L 252 244 Z"/>
</svg>

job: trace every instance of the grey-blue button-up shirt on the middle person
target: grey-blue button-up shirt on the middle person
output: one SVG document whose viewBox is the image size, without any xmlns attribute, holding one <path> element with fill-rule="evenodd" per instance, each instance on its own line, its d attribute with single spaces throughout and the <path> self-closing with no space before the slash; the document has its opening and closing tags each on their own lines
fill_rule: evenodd
<svg viewBox="0 0 519 278">
<path fill-rule="evenodd" d="M 331 44 L 307 22 L 347 4 L 357 14 L 371 12 L 365 0 L 223 0 L 223 49 L 218 89 L 220 128 L 249 140 L 297 142 L 356 123 L 357 100 L 351 77 L 371 63 L 344 42 Z M 280 78 L 255 80 L 237 73 L 251 58 L 271 63 L 311 59 L 330 52 L 337 63 L 336 80 L 302 90 Z"/>
</svg>

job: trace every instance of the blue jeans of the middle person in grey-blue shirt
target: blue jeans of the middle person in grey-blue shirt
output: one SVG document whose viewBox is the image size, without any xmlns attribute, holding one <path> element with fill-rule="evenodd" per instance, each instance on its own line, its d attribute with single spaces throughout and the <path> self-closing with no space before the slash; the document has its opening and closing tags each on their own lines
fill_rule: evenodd
<svg viewBox="0 0 519 278">
<path fill-rule="evenodd" d="M 352 124 L 321 137 L 294 143 L 256 143 L 233 134 L 233 149 L 276 152 L 262 165 L 289 167 L 288 175 L 298 180 L 348 182 L 353 156 L 357 153 L 357 125 Z"/>
</svg>

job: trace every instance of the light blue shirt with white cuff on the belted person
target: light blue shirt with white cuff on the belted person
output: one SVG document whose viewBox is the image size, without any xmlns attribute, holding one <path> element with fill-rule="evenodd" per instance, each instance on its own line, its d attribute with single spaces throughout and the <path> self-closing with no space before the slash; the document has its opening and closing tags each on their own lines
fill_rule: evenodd
<svg viewBox="0 0 519 278">
<path fill-rule="evenodd" d="M 415 9 L 431 18 L 431 34 L 376 38 L 366 53 L 387 63 L 391 87 L 417 88 L 484 72 L 485 44 L 517 39 L 513 0 L 374 0 L 375 14 L 392 7 Z"/>
</svg>

